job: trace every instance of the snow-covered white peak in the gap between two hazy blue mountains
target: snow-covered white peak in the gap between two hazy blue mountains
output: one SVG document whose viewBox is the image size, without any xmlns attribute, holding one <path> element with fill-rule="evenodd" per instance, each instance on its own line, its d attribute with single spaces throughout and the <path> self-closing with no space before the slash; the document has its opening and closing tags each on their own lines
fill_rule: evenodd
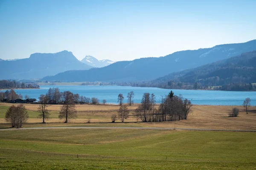
<svg viewBox="0 0 256 170">
<path fill-rule="evenodd" d="M 105 66 L 108 66 L 108 65 L 111 65 L 114 63 L 113 61 L 111 61 L 109 59 L 98 60 L 93 56 L 85 56 L 81 60 L 81 62 L 83 62 L 87 65 L 93 66 L 93 67 L 97 67 L 97 68 L 105 67 Z"/>
</svg>

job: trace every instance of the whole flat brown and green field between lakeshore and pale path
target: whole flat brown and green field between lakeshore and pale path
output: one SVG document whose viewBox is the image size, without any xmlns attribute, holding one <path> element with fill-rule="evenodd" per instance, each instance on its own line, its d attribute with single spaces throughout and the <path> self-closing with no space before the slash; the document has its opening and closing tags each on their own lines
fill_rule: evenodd
<svg viewBox="0 0 256 170">
<path fill-rule="evenodd" d="M 4 119 L 4 115 L 11 104 L 0 103 L 0 128 L 8 128 L 9 124 Z M 71 120 L 71 123 L 64 124 L 64 120 L 58 119 L 58 111 L 61 105 L 49 106 L 51 119 L 46 124 L 41 124 L 38 119 L 38 105 L 26 104 L 29 113 L 28 124 L 23 127 L 55 127 L 55 126 L 116 126 L 116 127 L 170 127 L 170 128 L 202 128 L 202 129 L 226 129 L 226 130 L 256 130 L 256 107 L 249 107 L 246 114 L 243 107 L 239 117 L 228 117 L 233 106 L 202 106 L 195 105 L 187 120 L 175 122 L 141 122 L 132 113 L 137 105 L 128 106 L 130 116 L 125 119 L 125 123 L 117 120 L 111 123 L 111 115 L 117 113 L 118 105 L 76 105 L 78 119 Z M 88 123 L 90 121 L 91 123 Z"/>
</svg>

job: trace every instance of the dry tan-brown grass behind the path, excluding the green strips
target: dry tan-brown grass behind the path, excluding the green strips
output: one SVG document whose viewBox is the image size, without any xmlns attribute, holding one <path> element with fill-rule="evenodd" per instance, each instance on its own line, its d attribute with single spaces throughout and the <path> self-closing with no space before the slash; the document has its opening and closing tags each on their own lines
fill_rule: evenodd
<svg viewBox="0 0 256 170">
<path fill-rule="evenodd" d="M 9 103 L 1 103 L 1 105 L 10 106 Z M 53 119 L 49 119 L 49 123 L 59 123 L 63 120 L 58 119 L 58 111 L 61 105 L 51 105 L 49 110 Z M 29 111 L 37 111 L 38 105 L 25 104 Z M 134 110 L 137 105 L 128 106 L 128 109 Z M 256 107 L 250 107 L 249 114 L 244 112 L 243 107 L 237 107 L 240 110 L 238 117 L 228 117 L 233 106 L 206 106 L 195 105 L 192 113 L 187 120 L 176 122 L 138 122 L 141 126 L 147 127 L 176 127 L 176 128 L 204 128 L 204 129 L 236 129 L 236 130 L 256 130 Z M 71 122 L 73 124 L 86 123 L 88 119 L 93 123 L 111 122 L 111 115 L 117 113 L 118 105 L 76 105 L 79 117 Z M 131 111 L 133 112 L 133 111 Z M 132 114 L 132 113 L 130 113 Z M 140 121 L 140 120 L 139 120 Z M 30 118 L 28 123 L 38 123 L 41 119 Z M 117 121 L 119 122 L 119 121 Z M 137 122 L 134 116 L 125 119 L 125 122 Z M 0 123 L 6 123 L 0 118 Z M 117 125 L 118 126 L 118 125 Z"/>
</svg>

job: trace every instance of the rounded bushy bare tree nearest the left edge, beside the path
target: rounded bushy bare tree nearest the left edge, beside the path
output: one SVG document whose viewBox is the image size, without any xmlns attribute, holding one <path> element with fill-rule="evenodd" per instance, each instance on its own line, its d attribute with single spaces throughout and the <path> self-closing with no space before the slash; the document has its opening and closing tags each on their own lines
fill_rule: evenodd
<svg viewBox="0 0 256 170">
<path fill-rule="evenodd" d="M 12 105 L 6 112 L 5 119 L 12 123 L 12 127 L 22 127 L 22 124 L 29 118 L 28 112 L 23 104 Z"/>
</svg>

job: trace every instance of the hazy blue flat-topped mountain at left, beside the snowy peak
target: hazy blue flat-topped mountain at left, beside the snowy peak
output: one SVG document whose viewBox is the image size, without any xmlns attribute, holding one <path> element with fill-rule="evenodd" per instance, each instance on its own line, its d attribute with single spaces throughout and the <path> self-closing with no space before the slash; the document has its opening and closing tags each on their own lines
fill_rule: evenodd
<svg viewBox="0 0 256 170">
<path fill-rule="evenodd" d="M 35 53 L 29 58 L 4 60 L 0 62 L 4 70 L 0 79 L 40 79 L 69 70 L 86 70 L 93 68 L 80 62 L 70 51 L 58 53 Z"/>
</svg>

